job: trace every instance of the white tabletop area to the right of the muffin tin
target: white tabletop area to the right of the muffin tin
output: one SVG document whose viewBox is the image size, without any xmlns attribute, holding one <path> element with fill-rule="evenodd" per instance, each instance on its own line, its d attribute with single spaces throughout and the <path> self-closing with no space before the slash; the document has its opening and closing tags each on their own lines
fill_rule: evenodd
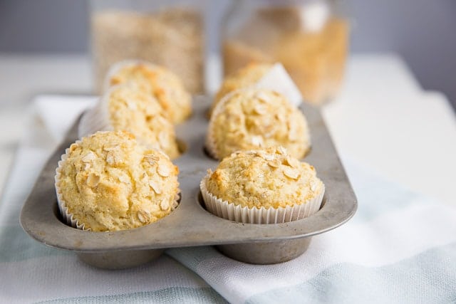
<svg viewBox="0 0 456 304">
<path fill-rule="evenodd" d="M 333 141 L 384 177 L 456 205 L 456 121 L 440 93 L 423 92 L 395 61 L 370 56 L 348 67 L 346 84 L 323 108 Z"/>
</svg>

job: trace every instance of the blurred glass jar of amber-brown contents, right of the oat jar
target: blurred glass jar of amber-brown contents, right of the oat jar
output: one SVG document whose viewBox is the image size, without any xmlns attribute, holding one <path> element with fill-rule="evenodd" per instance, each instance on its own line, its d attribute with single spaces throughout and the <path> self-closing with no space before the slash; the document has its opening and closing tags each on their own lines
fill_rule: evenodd
<svg viewBox="0 0 456 304">
<path fill-rule="evenodd" d="M 337 0 L 237 0 L 225 17 L 224 75 L 247 63 L 280 62 L 309 103 L 336 95 L 349 30 Z"/>
</svg>

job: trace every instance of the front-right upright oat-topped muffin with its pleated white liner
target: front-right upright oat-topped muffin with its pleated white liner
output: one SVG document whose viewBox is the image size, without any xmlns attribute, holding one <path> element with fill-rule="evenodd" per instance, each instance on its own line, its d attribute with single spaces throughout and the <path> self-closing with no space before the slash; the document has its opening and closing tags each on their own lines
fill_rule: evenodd
<svg viewBox="0 0 456 304">
<path fill-rule="evenodd" d="M 284 147 L 234 152 L 208 171 L 200 188 L 210 212 L 252 224 L 310 216 L 320 208 L 325 189 L 315 168 Z"/>
</svg>

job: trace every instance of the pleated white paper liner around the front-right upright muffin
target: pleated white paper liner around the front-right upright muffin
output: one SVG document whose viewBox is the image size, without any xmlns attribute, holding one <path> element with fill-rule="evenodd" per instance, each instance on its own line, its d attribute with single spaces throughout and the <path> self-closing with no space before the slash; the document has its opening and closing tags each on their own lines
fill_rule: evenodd
<svg viewBox="0 0 456 304">
<path fill-rule="evenodd" d="M 209 175 L 204 177 L 199 183 L 199 189 L 201 190 L 202 198 L 207 210 L 222 219 L 237 221 L 244 224 L 282 224 L 304 219 L 320 209 L 325 192 L 323 185 L 320 194 L 299 205 L 269 209 L 264 207 L 249 208 L 248 206 L 243 207 L 218 199 L 217 196 L 209 193 L 206 187 L 208 178 Z"/>
</svg>

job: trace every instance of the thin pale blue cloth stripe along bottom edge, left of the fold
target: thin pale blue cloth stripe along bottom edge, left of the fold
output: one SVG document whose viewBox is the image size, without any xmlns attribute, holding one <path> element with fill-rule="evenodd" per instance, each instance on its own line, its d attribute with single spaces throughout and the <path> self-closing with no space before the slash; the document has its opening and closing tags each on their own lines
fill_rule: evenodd
<svg viewBox="0 0 456 304">
<path fill-rule="evenodd" d="M 227 303 L 227 301 L 212 288 L 172 287 L 120 295 L 61 298 L 37 303 Z"/>
</svg>

